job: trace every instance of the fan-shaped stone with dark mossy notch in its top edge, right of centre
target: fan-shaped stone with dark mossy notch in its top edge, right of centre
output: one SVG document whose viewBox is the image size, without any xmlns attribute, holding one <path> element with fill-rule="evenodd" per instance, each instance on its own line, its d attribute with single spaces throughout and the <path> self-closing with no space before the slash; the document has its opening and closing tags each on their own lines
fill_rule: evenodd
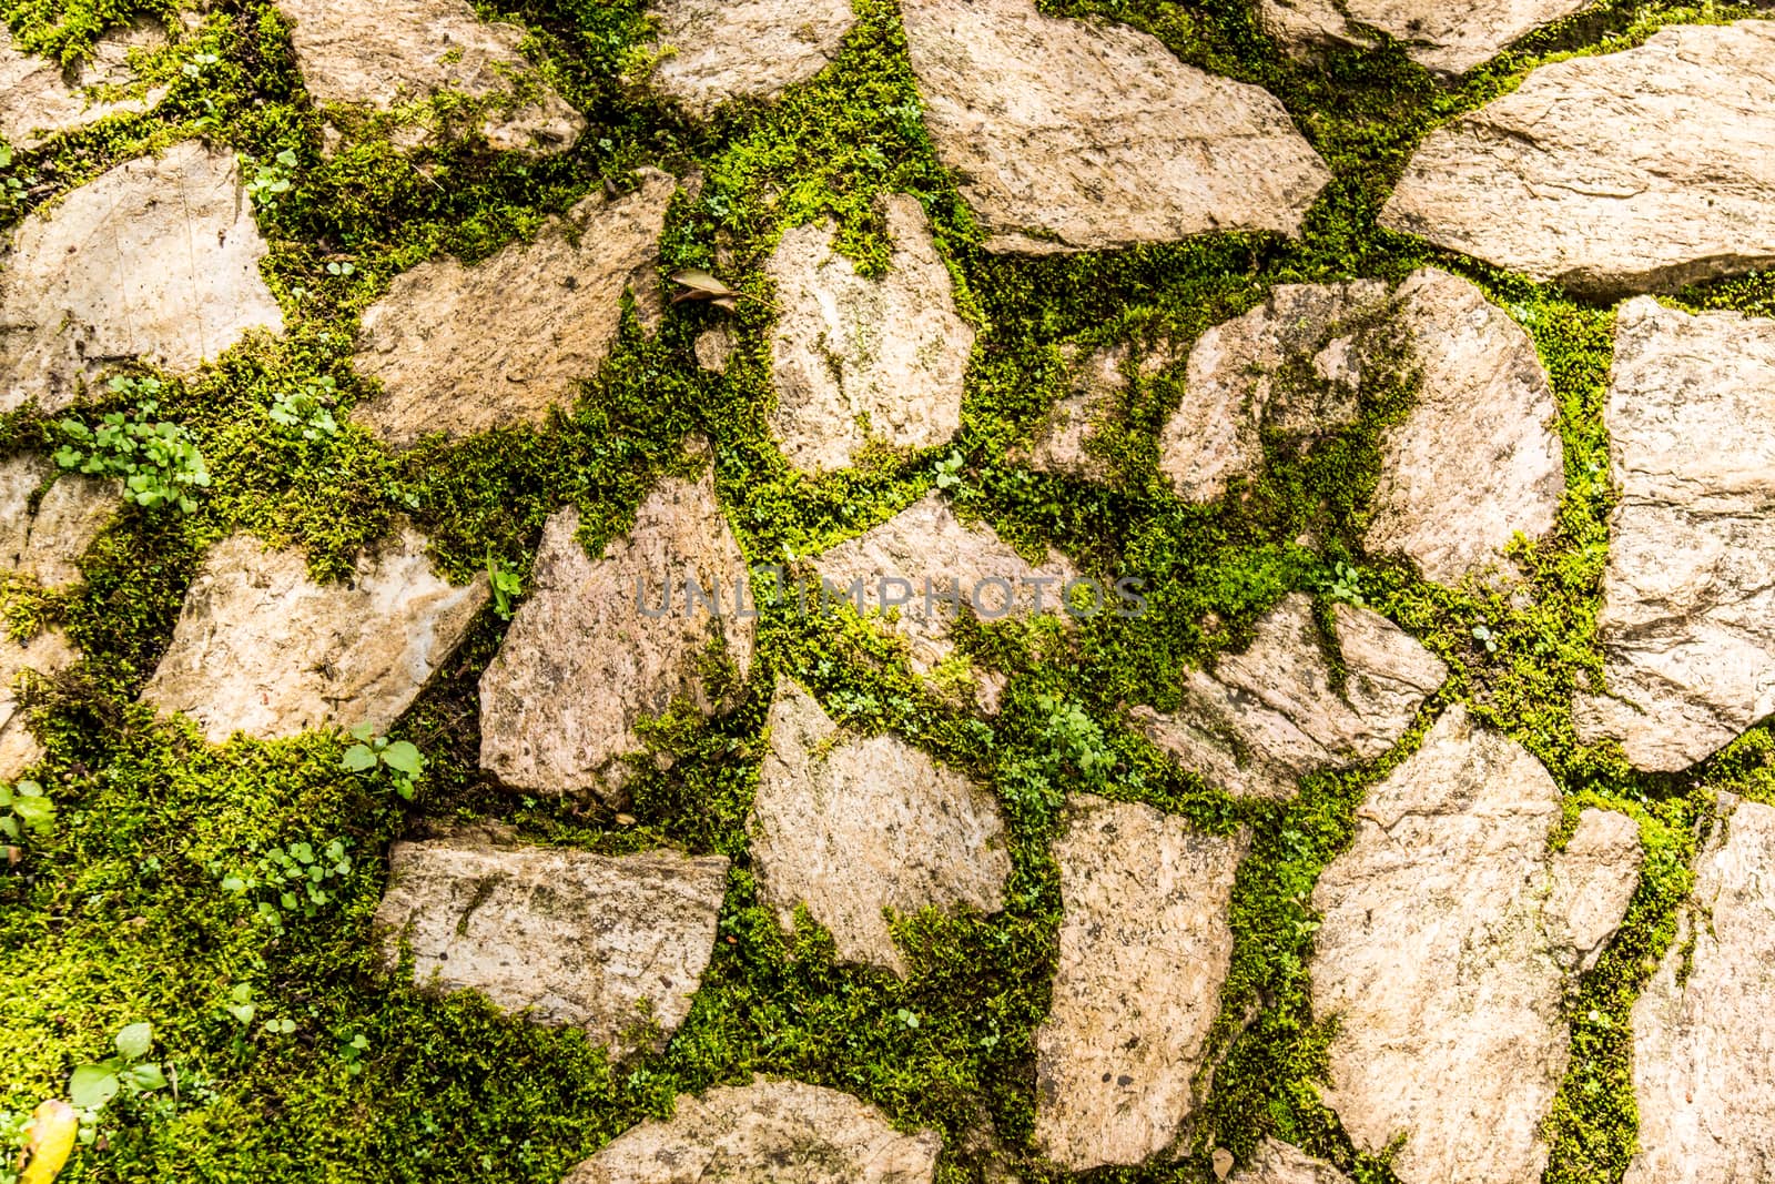
<svg viewBox="0 0 1775 1184">
<path fill-rule="evenodd" d="M 1287 799 L 1308 772 L 1376 760 L 1448 678 L 1429 650 L 1372 609 L 1331 605 L 1342 692 L 1314 621 L 1290 593 L 1257 621 L 1244 653 L 1184 678 L 1175 712 L 1136 706 L 1134 722 L 1184 769 L 1239 797 Z"/>
</svg>

